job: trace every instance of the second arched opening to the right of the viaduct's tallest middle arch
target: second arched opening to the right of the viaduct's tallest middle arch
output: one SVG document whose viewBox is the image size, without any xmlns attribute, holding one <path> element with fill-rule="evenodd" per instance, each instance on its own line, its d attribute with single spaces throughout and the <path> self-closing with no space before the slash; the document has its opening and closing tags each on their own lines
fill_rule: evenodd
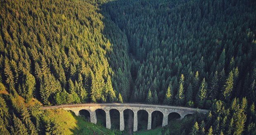
<svg viewBox="0 0 256 135">
<path fill-rule="evenodd" d="M 151 127 L 152 129 L 157 128 L 157 127 L 162 127 L 162 123 L 163 123 L 163 117 L 164 114 L 160 111 L 154 111 L 152 112 L 152 121 L 151 121 Z"/>
</svg>

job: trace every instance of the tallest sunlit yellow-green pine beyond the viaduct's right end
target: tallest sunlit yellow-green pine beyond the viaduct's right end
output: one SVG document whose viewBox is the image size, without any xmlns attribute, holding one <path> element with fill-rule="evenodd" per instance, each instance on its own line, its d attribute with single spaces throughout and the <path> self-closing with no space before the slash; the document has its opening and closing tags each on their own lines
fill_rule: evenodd
<svg viewBox="0 0 256 135">
<path fill-rule="evenodd" d="M 228 79 L 227 79 L 226 84 L 224 86 L 225 87 L 225 91 L 223 92 L 223 95 L 224 95 L 224 98 L 226 100 L 230 99 L 231 92 L 233 90 L 233 83 L 234 83 L 234 78 L 233 78 L 233 72 L 231 71 L 229 73 Z"/>
</svg>

